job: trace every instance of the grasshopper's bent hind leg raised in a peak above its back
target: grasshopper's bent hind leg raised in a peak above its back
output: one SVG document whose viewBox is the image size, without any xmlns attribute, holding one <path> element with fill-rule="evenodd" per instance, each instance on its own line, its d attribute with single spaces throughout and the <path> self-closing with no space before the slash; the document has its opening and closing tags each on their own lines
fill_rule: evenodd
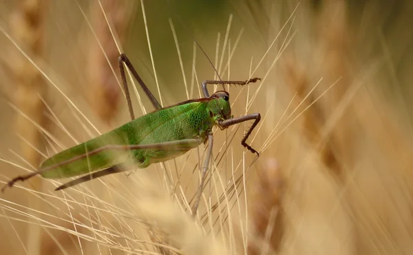
<svg viewBox="0 0 413 255">
<path fill-rule="evenodd" d="M 129 68 L 129 70 L 131 71 L 131 73 L 134 76 L 134 78 L 136 79 L 136 81 L 138 81 L 138 83 L 139 83 L 140 87 L 142 88 L 142 90 L 145 92 L 145 94 L 147 94 L 147 96 L 148 96 L 149 100 L 151 101 L 153 107 L 156 110 L 162 109 L 162 106 L 160 105 L 158 100 L 156 100 L 155 96 L 153 96 L 153 94 L 151 93 L 151 90 L 149 90 L 147 85 L 145 85 L 145 83 L 142 81 L 142 79 L 140 78 L 138 72 L 136 72 L 136 70 L 134 68 L 134 65 L 132 65 L 131 61 L 129 61 L 129 59 L 127 58 L 125 53 L 120 54 L 120 56 L 118 58 L 118 63 L 119 63 L 120 77 L 122 78 L 122 83 L 123 83 L 123 90 L 125 90 L 127 107 L 129 108 L 129 113 L 131 115 L 132 121 L 135 119 L 135 114 L 134 114 L 134 108 L 132 108 L 132 102 L 131 102 L 131 96 L 129 94 L 129 88 L 127 87 L 127 79 L 126 79 L 125 68 L 123 67 L 123 63 L 125 63 L 127 68 Z"/>
</svg>

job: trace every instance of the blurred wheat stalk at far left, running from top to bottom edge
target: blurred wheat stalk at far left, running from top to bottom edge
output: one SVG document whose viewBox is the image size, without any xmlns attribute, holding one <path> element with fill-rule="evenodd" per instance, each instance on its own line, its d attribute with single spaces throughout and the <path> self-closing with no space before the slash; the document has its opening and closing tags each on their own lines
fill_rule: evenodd
<svg viewBox="0 0 413 255">
<path fill-rule="evenodd" d="M 12 15 L 10 24 L 16 41 L 30 54 L 32 59 L 41 59 L 43 56 L 44 38 L 44 2 L 23 0 L 19 1 L 17 9 Z M 17 107 L 30 116 L 32 121 L 39 125 L 47 125 L 43 115 L 45 106 L 42 97 L 45 96 L 45 81 L 36 68 L 21 54 L 15 52 L 10 58 L 10 70 L 14 78 L 15 91 L 14 103 Z M 32 122 L 21 114 L 16 116 L 17 134 L 24 138 L 20 143 L 21 155 L 30 165 L 37 167 L 41 163 L 41 154 L 33 147 L 43 150 L 43 137 Z M 30 181 L 34 190 L 41 190 L 41 179 Z M 41 210 L 41 204 L 37 199 L 29 200 L 29 207 Z M 36 220 L 33 218 L 33 222 Z M 41 245 L 41 228 L 36 224 L 30 224 L 28 228 L 27 249 L 30 254 L 39 254 Z"/>
</svg>

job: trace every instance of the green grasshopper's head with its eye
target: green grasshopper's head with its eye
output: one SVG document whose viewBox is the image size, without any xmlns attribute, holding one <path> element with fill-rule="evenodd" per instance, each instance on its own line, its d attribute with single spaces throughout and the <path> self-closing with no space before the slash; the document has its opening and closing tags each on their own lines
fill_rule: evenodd
<svg viewBox="0 0 413 255">
<path fill-rule="evenodd" d="M 217 91 L 211 96 L 208 108 L 213 114 L 214 119 L 231 119 L 231 104 L 229 103 L 229 94 L 226 91 Z"/>
</svg>

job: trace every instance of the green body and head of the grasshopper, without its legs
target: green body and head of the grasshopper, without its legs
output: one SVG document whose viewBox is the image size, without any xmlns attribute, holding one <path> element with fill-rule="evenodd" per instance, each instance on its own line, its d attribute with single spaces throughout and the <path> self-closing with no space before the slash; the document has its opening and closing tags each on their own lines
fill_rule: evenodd
<svg viewBox="0 0 413 255">
<path fill-rule="evenodd" d="M 134 119 L 110 132 L 55 154 L 43 161 L 40 170 L 98 150 L 105 145 L 151 144 L 182 139 L 198 139 L 200 143 L 204 143 L 207 132 L 213 125 L 231 116 L 231 106 L 229 101 L 225 100 L 228 94 L 218 92 L 215 95 L 216 98 L 213 99 L 185 101 Z M 192 147 L 179 150 L 131 150 L 130 154 L 137 162 L 136 167 L 145 168 L 152 163 L 176 158 L 191 149 Z M 72 177 L 112 167 L 123 163 L 121 157 L 114 156 L 117 155 L 116 152 L 118 151 L 104 150 L 41 172 L 41 176 L 48 179 Z"/>
</svg>

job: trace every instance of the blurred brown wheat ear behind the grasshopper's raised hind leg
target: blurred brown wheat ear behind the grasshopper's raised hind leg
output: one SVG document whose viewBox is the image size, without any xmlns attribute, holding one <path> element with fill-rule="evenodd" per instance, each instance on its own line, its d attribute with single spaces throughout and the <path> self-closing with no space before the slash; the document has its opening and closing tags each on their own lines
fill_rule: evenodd
<svg viewBox="0 0 413 255">
<path fill-rule="evenodd" d="M 96 114 L 106 122 L 116 116 L 121 99 L 120 84 L 114 75 L 114 70 L 118 73 L 120 54 L 116 41 L 118 45 L 125 43 L 125 31 L 131 14 L 129 8 L 126 1 L 102 0 L 90 4 L 94 37 L 89 40 L 87 55 L 87 94 Z"/>
</svg>

